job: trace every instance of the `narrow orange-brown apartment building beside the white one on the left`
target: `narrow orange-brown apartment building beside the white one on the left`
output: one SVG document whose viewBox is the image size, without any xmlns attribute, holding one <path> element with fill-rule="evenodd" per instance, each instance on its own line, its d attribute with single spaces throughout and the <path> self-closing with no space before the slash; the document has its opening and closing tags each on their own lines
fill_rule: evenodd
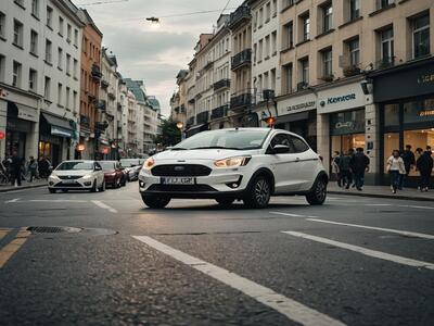
<svg viewBox="0 0 434 326">
<path fill-rule="evenodd" d="M 86 10 L 79 15 L 85 22 L 81 46 L 80 151 L 81 159 L 101 158 L 110 146 L 104 137 L 107 123 L 103 120 L 104 103 L 100 101 L 102 33 Z"/>
</svg>

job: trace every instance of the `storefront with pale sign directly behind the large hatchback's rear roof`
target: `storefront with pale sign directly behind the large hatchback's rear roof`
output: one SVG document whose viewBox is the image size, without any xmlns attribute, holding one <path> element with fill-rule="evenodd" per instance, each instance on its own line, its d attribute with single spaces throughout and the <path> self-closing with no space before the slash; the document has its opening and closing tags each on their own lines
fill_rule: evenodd
<svg viewBox="0 0 434 326">
<path fill-rule="evenodd" d="M 280 99 L 277 103 L 278 116 L 276 118 L 276 128 L 290 130 L 302 136 L 317 151 L 316 109 L 317 98 L 312 92 Z M 264 112 L 264 114 L 266 116 L 267 112 Z"/>
</svg>

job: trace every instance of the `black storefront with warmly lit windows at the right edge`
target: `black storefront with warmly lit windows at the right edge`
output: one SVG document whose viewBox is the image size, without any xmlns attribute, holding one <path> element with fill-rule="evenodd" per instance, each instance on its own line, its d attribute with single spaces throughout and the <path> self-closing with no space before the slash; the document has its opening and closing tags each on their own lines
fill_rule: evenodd
<svg viewBox="0 0 434 326">
<path fill-rule="evenodd" d="M 370 76 L 374 100 L 380 110 L 381 181 L 388 183 L 386 161 L 393 150 L 407 145 L 416 152 L 434 148 L 434 59 L 397 66 Z M 412 170 L 409 186 L 416 186 L 418 172 Z M 434 177 L 434 173 L 433 173 Z"/>
</svg>

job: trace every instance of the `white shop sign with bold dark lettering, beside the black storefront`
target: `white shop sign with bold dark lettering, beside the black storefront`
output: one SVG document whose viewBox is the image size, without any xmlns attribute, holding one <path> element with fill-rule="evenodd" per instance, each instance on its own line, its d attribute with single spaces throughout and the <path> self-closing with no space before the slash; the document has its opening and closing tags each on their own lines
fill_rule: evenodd
<svg viewBox="0 0 434 326">
<path fill-rule="evenodd" d="M 362 108 L 371 100 L 371 96 L 363 93 L 360 82 L 329 88 L 318 92 L 318 113 Z"/>
</svg>

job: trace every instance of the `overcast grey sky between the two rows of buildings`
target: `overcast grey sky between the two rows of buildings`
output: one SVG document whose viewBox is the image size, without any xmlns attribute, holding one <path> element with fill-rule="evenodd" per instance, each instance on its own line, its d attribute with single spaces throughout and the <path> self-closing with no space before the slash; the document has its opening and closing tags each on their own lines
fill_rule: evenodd
<svg viewBox="0 0 434 326">
<path fill-rule="evenodd" d="M 119 0 L 74 0 L 78 7 Z M 169 99 L 176 90 L 176 75 L 193 58 L 201 33 L 212 33 L 213 24 L 228 0 L 124 0 L 118 3 L 85 7 L 104 34 L 103 46 L 117 55 L 124 77 L 143 79 L 149 95 L 169 113 Z M 233 11 L 242 0 L 230 0 Z M 217 12 L 189 14 L 197 11 Z M 144 18 L 162 17 L 153 25 Z M 164 17 L 168 16 L 168 17 Z M 171 16 L 171 17 L 169 17 Z"/>
</svg>

